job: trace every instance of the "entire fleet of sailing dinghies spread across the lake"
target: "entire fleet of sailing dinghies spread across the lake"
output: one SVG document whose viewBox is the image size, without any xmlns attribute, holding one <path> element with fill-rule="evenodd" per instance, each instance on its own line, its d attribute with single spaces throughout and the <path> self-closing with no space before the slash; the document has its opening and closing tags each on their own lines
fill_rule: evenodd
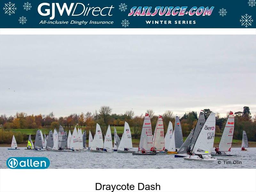
<svg viewBox="0 0 256 192">
<path fill-rule="evenodd" d="M 121 140 L 114 127 L 114 146 L 110 125 L 108 125 L 104 140 L 99 124 L 96 124 L 94 137 L 92 137 L 92 133 L 89 131 L 88 148 L 86 147 L 86 131 L 82 133 L 81 129 L 78 128 L 77 130 L 75 127 L 72 134 L 70 130 L 67 134 L 60 125 L 59 132 L 54 129 L 53 132 L 49 132 L 48 136 L 45 134 L 43 136 L 42 131 L 37 130 L 35 144 L 33 144 L 31 135 L 29 135 L 26 149 L 54 152 L 82 152 L 89 150 L 90 152 L 113 153 L 117 151 L 117 153 L 132 153 L 132 155 L 175 154 L 175 157 L 183 157 L 184 160 L 213 161 L 216 158 L 212 156 L 231 156 L 230 152 L 235 127 L 234 121 L 234 114 L 230 111 L 220 143 L 218 148 L 215 148 L 214 153 L 212 152 L 212 148 L 215 137 L 215 113 L 211 112 L 205 119 L 203 111 L 200 112 L 196 126 L 189 133 L 184 143 L 178 116 L 175 118 L 174 130 L 170 121 L 165 136 L 163 117 L 161 115 L 158 116 L 153 135 L 150 116 L 146 113 L 137 152 L 133 150 L 131 129 L 127 122 L 124 123 L 124 132 Z M 246 151 L 247 149 L 245 148 L 248 147 L 246 132 L 243 131 L 241 150 Z M 12 137 L 11 148 L 8 149 L 19 149 L 14 135 Z"/>
</svg>

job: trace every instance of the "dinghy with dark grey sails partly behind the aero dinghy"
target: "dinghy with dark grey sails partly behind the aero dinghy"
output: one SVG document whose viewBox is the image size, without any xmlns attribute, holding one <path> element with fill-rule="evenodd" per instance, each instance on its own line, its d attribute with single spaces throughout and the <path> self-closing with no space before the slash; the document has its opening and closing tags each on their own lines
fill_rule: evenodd
<svg viewBox="0 0 256 192">
<path fill-rule="evenodd" d="M 204 112 L 201 111 L 196 122 L 196 127 L 192 129 L 192 131 L 189 133 L 187 139 L 178 150 L 178 153 L 174 155 L 174 157 L 189 156 L 188 153 L 191 151 L 191 148 L 194 147 L 196 139 L 204 125 L 204 122 L 205 122 Z"/>
</svg>

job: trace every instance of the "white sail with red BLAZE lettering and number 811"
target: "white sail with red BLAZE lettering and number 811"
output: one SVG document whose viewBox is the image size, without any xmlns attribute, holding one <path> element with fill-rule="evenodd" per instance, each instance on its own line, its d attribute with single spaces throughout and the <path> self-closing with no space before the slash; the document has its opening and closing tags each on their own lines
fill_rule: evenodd
<svg viewBox="0 0 256 192">
<path fill-rule="evenodd" d="M 141 135 L 140 135 L 140 144 L 139 151 L 150 151 L 153 148 L 153 135 L 150 116 L 148 113 L 145 114 L 144 122 L 142 125 Z"/>
</svg>

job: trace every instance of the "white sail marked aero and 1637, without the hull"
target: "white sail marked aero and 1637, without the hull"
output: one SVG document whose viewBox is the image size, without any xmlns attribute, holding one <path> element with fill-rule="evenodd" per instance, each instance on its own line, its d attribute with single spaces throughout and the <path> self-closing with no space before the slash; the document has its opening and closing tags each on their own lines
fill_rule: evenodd
<svg viewBox="0 0 256 192">
<path fill-rule="evenodd" d="M 211 112 L 206 119 L 196 143 L 192 149 L 194 154 L 208 154 L 212 152 L 213 142 L 215 136 L 215 113 Z"/>
</svg>

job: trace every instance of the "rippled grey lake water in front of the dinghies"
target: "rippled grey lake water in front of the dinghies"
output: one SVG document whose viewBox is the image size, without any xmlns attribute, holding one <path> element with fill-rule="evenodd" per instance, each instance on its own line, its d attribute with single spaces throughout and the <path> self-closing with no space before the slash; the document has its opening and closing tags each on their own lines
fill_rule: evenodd
<svg viewBox="0 0 256 192">
<path fill-rule="evenodd" d="M 232 148 L 232 155 L 236 156 L 217 156 L 218 161 L 185 161 L 183 158 L 174 158 L 174 155 L 154 155 L 154 156 L 133 156 L 131 153 L 92 153 L 89 151 L 72 152 L 52 152 L 52 151 L 32 151 L 7 150 L 7 147 L 0 147 L 0 168 L 7 168 L 6 160 L 9 157 L 47 157 L 52 169 L 82 169 L 82 168 L 128 168 L 128 169 L 187 169 L 187 168 L 256 168 L 256 148 L 248 148 L 247 151 L 241 151 L 241 148 Z M 135 149 L 135 148 L 134 148 Z M 135 149 L 137 150 L 137 148 Z M 231 164 L 224 164 L 224 161 L 230 161 Z M 234 164 L 233 162 L 241 162 Z"/>
</svg>

